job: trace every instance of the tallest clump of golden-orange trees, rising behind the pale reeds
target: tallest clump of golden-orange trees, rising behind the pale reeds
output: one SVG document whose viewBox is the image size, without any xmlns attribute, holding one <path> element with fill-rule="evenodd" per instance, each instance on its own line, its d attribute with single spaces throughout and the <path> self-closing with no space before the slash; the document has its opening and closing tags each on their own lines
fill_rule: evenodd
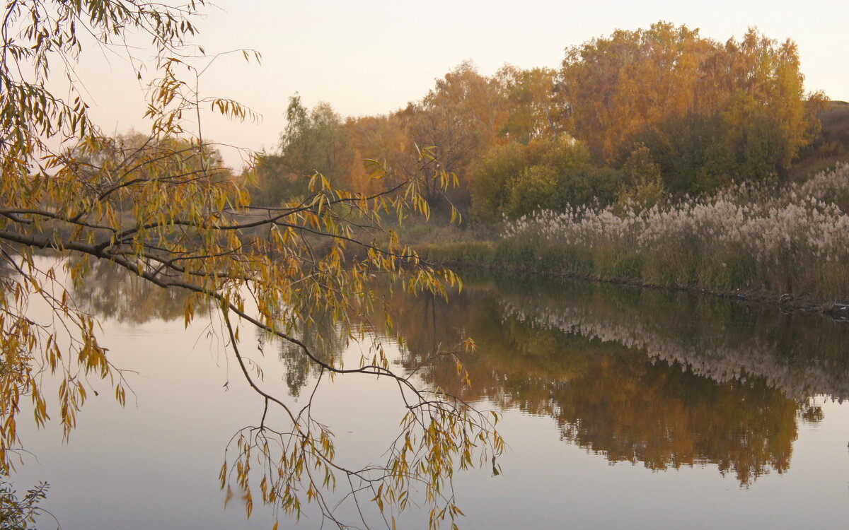
<svg viewBox="0 0 849 530">
<path fill-rule="evenodd" d="M 568 48 L 560 78 L 572 134 L 612 165 L 644 144 L 681 192 L 783 178 L 824 98 L 804 92 L 790 40 L 720 43 L 667 22 Z"/>
</svg>

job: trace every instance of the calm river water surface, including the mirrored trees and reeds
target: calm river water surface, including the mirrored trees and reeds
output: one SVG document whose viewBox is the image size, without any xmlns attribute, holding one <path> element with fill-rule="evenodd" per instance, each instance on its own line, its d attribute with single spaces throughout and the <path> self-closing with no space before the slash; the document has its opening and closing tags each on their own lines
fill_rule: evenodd
<svg viewBox="0 0 849 530">
<path fill-rule="evenodd" d="M 16 487 L 50 483 L 43 505 L 63 530 L 270 529 L 273 510 L 258 505 L 246 520 L 218 488 L 228 441 L 258 423 L 263 404 L 228 358 L 216 318 L 200 315 L 187 330 L 177 293 L 108 269 L 95 278 L 75 297 L 98 315 L 102 343 L 135 394 L 121 408 L 101 385 L 66 444 L 55 422 L 21 427 L 31 454 Z M 458 385 L 451 363 L 430 366 L 420 382 L 503 414 L 503 473 L 455 480 L 461 528 L 849 525 L 845 323 L 480 273 L 465 275 L 449 302 L 390 297 L 405 338 L 402 347 L 383 338 L 396 369 L 472 337 L 472 388 Z M 264 356 L 250 351 L 265 388 L 293 403 L 312 392 L 317 372 L 293 350 L 246 342 L 262 343 Z M 359 348 L 329 343 L 323 354 L 356 358 Z M 314 415 L 335 432 L 340 460 L 380 460 L 401 414 L 393 386 L 371 377 L 324 380 L 316 394 Z M 280 527 L 319 526 L 306 515 L 281 515 Z M 51 525 L 42 519 L 40 528 Z M 415 508 L 399 525 L 426 526 Z"/>
</svg>

